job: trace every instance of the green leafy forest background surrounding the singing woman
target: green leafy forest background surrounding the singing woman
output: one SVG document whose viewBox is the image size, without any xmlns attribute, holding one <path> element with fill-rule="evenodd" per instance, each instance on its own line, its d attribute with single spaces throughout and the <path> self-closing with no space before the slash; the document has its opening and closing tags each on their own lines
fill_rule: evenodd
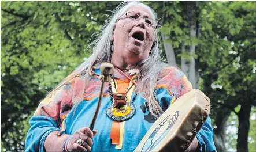
<svg viewBox="0 0 256 152">
<path fill-rule="evenodd" d="M 162 56 L 212 102 L 218 151 L 256 149 L 256 2 L 144 1 Z M 39 102 L 91 53 L 120 1 L 1 1 L 1 151 L 24 151 Z"/>
</svg>

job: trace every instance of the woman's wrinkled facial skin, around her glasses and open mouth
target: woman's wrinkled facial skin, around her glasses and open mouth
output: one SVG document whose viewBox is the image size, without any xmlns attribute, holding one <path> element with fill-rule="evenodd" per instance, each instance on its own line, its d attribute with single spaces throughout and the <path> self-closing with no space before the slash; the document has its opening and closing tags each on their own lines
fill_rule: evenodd
<svg viewBox="0 0 256 152">
<path fill-rule="evenodd" d="M 142 17 L 152 18 L 149 10 L 142 5 L 132 6 L 127 12 L 135 12 Z M 132 37 L 135 32 L 143 32 L 144 40 L 140 41 Z M 146 24 L 143 18 L 135 21 L 125 16 L 116 22 L 113 31 L 113 55 L 112 62 L 121 67 L 133 66 L 142 60 L 149 58 L 149 53 L 155 40 L 155 29 Z"/>
</svg>

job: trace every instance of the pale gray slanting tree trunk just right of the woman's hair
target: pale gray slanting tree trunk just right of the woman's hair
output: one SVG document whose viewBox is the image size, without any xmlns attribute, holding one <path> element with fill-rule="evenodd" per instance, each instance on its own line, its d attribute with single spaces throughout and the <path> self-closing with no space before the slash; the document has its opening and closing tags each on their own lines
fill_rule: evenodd
<svg viewBox="0 0 256 152">
<path fill-rule="evenodd" d="M 162 40 L 164 41 L 164 48 L 165 48 L 165 55 L 169 65 L 177 67 L 176 59 L 175 59 L 175 52 L 171 44 L 167 43 L 166 40 L 168 39 L 166 35 L 161 32 Z"/>
</svg>

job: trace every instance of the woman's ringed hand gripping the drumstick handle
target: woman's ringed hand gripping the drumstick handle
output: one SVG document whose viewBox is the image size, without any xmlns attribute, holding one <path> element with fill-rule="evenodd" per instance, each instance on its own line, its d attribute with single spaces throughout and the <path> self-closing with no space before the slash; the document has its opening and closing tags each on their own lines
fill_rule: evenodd
<svg viewBox="0 0 256 152">
<path fill-rule="evenodd" d="M 79 130 L 76 130 L 73 135 L 71 135 L 66 143 L 66 148 L 69 152 L 74 151 L 91 151 L 92 138 L 97 133 L 96 130 L 91 131 L 89 127 L 83 127 Z M 82 144 L 79 145 L 76 143 L 77 140 L 81 139 Z"/>
</svg>

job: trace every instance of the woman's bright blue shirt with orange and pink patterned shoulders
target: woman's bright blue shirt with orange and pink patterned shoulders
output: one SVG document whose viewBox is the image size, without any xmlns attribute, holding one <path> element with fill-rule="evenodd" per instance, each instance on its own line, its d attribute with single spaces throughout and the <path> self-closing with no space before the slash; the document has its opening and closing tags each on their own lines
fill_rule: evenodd
<svg viewBox="0 0 256 152">
<path fill-rule="evenodd" d="M 98 67 L 92 70 L 100 75 Z M 97 107 L 101 84 L 97 75 L 89 78 L 79 75 L 58 89 L 53 96 L 46 97 L 40 102 L 34 116 L 29 120 L 31 128 L 27 134 L 25 151 L 44 151 L 44 141 L 52 131 L 61 130 L 64 134 L 72 135 L 79 128 L 90 126 Z M 129 83 L 128 79 L 116 79 L 119 84 Z M 192 90 L 191 83 L 183 72 L 175 67 L 166 67 L 159 73 L 159 79 L 155 85 L 155 98 L 159 105 L 166 109 L 190 90 Z M 135 92 L 132 93 L 131 98 L 134 95 Z M 110 139 L 113 120 L 109 119 L 105 112 L 110 104 L 109 84 L 106 83 L 94 126 L 94 130 L 98 132 L 93 138 L 94 145 L 91 151 L 134 151 L 155 121 L 148 110 L 146 100 L 142 97 L 142 93 L 138 93 L 133 101 L 136 112 L 131 119 L 125 121 L 122 149 L 116 149 L 116 145 L 113 145 Z M 203 124 L 196 138 L 200 151 L 216 151 L 210 117 Z"/>
</svg>

